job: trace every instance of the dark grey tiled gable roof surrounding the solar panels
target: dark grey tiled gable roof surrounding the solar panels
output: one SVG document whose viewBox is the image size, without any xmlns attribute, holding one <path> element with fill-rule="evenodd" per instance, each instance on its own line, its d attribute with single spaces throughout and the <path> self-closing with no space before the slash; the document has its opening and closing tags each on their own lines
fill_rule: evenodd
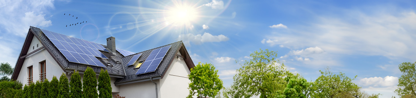
<svg viewBox="0 0 416 98">
<path fill-rule="evenodd" d="M 33 36 L 35 36 L 35 37 L 33 37 Z M 25 56 L 28 55 L 28 54 L 30 55 L 30 53 L 27 53 L 27 51 L 30 48 L 32 38 L 37 38 L 40 41 L 40 43 L 44 46 L 44 48 L 51 54 L 51 56 L 54 58 L 54 60 L 57 62 L 57 64 L 59 66 L 61 66 L 61 68 L 65 72 L 73 72 L 74 70 L 83 72 L 83 71 L 85 71 L 85 69 L 87 67 L 91 67 L 96 73 L 99 73 L 100 70 L 103 68 L 103 69 L 108 70 L 110 77 L 119 78 L 118 80 L 116 80 L 115 83 L 133 82 L 133 81 L 148 79 L 150 77 L 162 77 L 165 74 L 166 69 L 172 63 L 174 57 L 177 57 L 177 56 L 181 56 L 185 60 L 185 63 L 186 63 L 186 65 L 188 65 L 189 69 L 195 66 L 194 63 L 192 62 L 192 59 L 190 58 L 186 48 L 185 48 L 185 46 L 183 45 L 182 41 L 178 41 L 178 42 L 171 43 L 171 44 L 168 44 L 168 45 L 164 45 L 164 46 L 161 46 L 161 47 L 158 47 L 158 48 L 149 49 L 149 50 L 145 50 L 145 51 L 142 51 L 142 52 L 135 53 L 135 54 L 142 53 L 142 55 L 139 57 L 138 61 L 143 61 L 149 56 L 149 54 L 153 50 L 160 49 L 160 48 L 163 48 L 163 47 L 169 46 L 169 45 L 171 46 L 171 48 L 167 51 L 165 57 L 163 58 L 162 62 L 160 63 L 160 65 L 158 66 L 156 71 L 150 72 L 150 73 L 136 75 L 136 72 L 138 71 L 138 68 L 134 69 L 133 65 L 126 66 L 127 63 L 130 61 L 130 59 L 135 54 L 128 55 L 128 56 L 125 57 L 120 52 L 116 52 L 116 54 L 114 55 L 111 52 L 101 51 L 107 58 L 109 58 L 108 62 L 112 66 L 99 67 L 99 66 L 93 66 L 93 65 L 72 63 L 72 62 L 69 62 L 65 58 L 65 56 L 54 46 L 54 44 L 47 38 L 47 36 L 42 32 L 41 29 L 31 26 L 29 28 L 29 32 L 26 36 L 25 42 L 23 43 L 23 47 L 22 47 L 21 52 L 19 54 L 19 58 L 17 60 L 17 63 L 15 65 L 14 73 L 12 75 L 13 80 L 17 79 L 18 74 L 20 73 L 21 67 L 23 65 L 23 62 L 25 60 Z M 107 46 L 105 46 L 105 45 L 103 45 L 103 46 L 105 48 L 107 48 Z M 176 55 L 178 52 L 180 52 L 181 55 Z M 111 60 L 110 56 L 113 56 L 114 57 L 113 59 L 115 59 L 116 61 L 121 61 L 121 64 L 116 63 L 115 61 Z M 103 63 L 104 65 L 107 65 L 102 60 L 100 60 L 100 62 Z"/>
</svg>

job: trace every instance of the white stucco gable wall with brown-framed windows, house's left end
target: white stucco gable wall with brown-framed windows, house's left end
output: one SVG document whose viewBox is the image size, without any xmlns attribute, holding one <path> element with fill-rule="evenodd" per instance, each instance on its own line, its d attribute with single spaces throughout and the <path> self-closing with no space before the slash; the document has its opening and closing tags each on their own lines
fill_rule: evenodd
<svg viewBox="0 0 416 98">
<path fill-rule="evenodd" d="M 32 43 L 31 43 L 31 47 L 28 50 L 28 53 L 33 51 L 33 46 L 35 46 L 36 49 L 36 44 L 39 44 L 39 47 L 42 46 L 42 44 L 40 44 L 39 40 L 37 40 L 36 37 L 33 38 Z M 20 73 L 18 75 L 18 79 L 17 81 L 20 81 L 24 84 L 27 84 L 28 82 L 28 68 L 29 66 L 33 66 L 33 82 L 39 81 L 40 77 L 40 62 L 42 61 L 46 61 L 46 78 L 49 81 L 52 81 L 52 77 L 53 75 L 57 76 L 57 78 L 59 79 L 59 76 L 64 72 L 62 70 L 62 68 L 55 62 L 54 58 L 51 56 L 51 54 L 49 54 L 49 52 L 46 49 L 41 49 L 39 51 L 37 51 L 34 54 L 31 54 L 29 56 L 26 57 L 26 59 L 23 62 L 22 68 L 20 69 Z"/>
</svg>

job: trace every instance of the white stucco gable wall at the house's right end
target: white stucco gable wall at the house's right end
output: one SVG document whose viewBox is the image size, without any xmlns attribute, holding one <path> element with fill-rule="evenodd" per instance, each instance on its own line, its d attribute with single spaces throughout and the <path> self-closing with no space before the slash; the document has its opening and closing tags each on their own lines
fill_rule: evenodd
<svg viewBox="0 0 416 98">
<path fill-rule="evenodd" d="M 160 80 L 159 98 L 186 98 L 189 94 L 189 79 L 191 73 L 182 58 L 176 58 Z"/>
</svg>

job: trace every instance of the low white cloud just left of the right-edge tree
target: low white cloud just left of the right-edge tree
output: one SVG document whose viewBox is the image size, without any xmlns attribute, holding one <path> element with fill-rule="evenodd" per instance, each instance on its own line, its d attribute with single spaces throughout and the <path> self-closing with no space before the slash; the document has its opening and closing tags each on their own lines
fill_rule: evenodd
<svg viewBox="0 0 416 98">
<path fill-rule="evenodd" d="M 359 81 L 359 84 L 363 86 L 372 86 L 372 87 L 395 86 L 398 84 L 398 77 L 386 76 L 384 78 L 382 77 L 363 78 Z"/>
</svg>

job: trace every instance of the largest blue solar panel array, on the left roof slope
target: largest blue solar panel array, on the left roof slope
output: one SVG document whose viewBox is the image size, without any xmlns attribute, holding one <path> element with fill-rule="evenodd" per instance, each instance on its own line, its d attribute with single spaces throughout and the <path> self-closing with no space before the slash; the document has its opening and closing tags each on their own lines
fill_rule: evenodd
<svg viewBox="0 0 416 98">
<path fill-rule="evenodd" d="M 96 58 L 107 58 L 99 51 L 108 51 L 102 45 L 60 33 L 41 30 L 69 62 L 106 67 Z"/>
</svg>

